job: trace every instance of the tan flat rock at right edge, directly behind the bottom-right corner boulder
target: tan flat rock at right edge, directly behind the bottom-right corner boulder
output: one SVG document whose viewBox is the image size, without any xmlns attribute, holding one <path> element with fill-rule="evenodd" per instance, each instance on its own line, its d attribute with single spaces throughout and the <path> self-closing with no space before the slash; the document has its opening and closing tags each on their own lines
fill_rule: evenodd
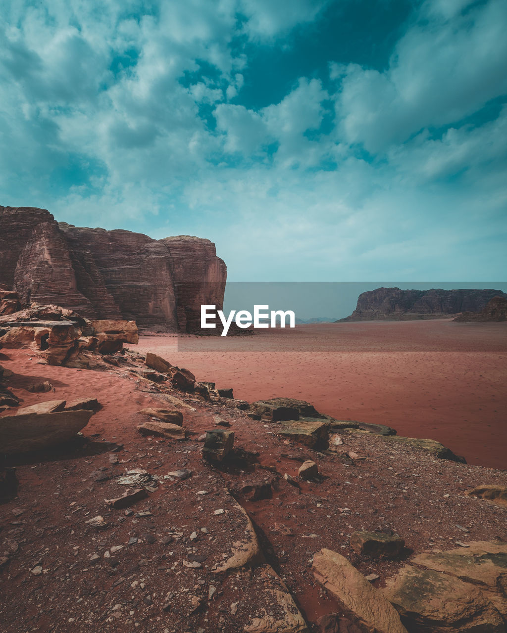
<svg viewBox="0 0 507 633">
<path fill-rule="evenodd" d="M 507 620 L 507 543 L 469 541 L 468 548 L 424 552 L 412 559 L 479 587 Z"/>
</svg>

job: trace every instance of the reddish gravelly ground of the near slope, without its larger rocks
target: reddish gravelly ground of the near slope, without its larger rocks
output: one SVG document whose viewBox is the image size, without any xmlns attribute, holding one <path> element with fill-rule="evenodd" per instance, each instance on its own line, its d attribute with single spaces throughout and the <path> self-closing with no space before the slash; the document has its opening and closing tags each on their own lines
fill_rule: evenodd
<svg viewBox="0 0 507 633">
<path fill-rule="evenodd" d="M 129 358 L 141 365 L 135 354 Z M 290 596 L 318 630 L 319 617 L 339 611 L 312 574 L 321 548 L 342 553 L 364 575 L 375 573 L 372 582 L 382 587 L 422 551 L 507 540 L 507 509 L 465 495 L 479 484 L 507 485 L 507 472 L 351 430 L 338 434 L 342 444 L 332 450 L 307 448 L 276 435 L 278 423 L 254 420 L 226 399 L 159 391 L 121 364 L 70 370 L 35 365 L 11 349 L 1 364 L 14 372 L 6 384 L 22 406 L 84 396 L 103 405 L 72 444 L 8 462 L 18 484 L 17 496 L 0 506 L 0 620 L 10 633 L 260 633 L 282 630 L 273 626 L 295 610 Z M 56 391 L 26 391 L 41 378 Z M 184 403 L 188 438 L 141 436 L 137 412 L 174 408 L 168 396 Z M 234 430 L 234 451 L 227 464 L 210 465 L 200 437 L 215 428 L 217 415 Z M 297 477 L 305 460 L 318 464 L 318 481 Z M 122 483 L 136 469 L 142 472 Z M 188 472 L 169 474 L 178 470 Z M 139 486 L 147 498 L 126 510 L 106 504 Z M 349 542 L 358 529 L 400 534 L 404 560 L 361 558 Z M 290 630 L 302 630 L 297 626 Z"/>
</svg>

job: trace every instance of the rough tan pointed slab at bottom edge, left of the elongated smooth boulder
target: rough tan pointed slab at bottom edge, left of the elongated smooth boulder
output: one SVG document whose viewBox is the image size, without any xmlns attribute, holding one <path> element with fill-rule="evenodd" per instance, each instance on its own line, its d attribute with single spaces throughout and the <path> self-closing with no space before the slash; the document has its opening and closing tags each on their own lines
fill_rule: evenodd
<svg viewBox="0 0 507 633">
<path fill-rule="evenodd" d="M 245 633 L 307 633 L 307 625 L 285 582 L 271 565 L 261 565 L 251 582 L 254 601 L 260 600 L 260 613 L 243 627 Z M 248 594 L 247 594 L 248 598 Z M 265 605 L 265 606 L 264 606 Z M 269 606 L 268 606 L 269 605 Z"/>
</svg>

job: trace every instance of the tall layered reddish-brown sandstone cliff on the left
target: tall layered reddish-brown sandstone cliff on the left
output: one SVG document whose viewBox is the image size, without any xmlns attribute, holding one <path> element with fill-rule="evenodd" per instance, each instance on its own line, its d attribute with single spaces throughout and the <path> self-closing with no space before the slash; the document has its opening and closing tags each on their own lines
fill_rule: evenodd
<svg viewBox="0 0 507 633">
<path fill-rule="evenodd" d="M 207 239 L 157 241 L 57 223 L 44 209 L 0 206 L 0 284 L 24 303 L 56 303 L 91 319 L 189 332 L 201 303 L 222 306 L 226 277 Z"/>
</svg>

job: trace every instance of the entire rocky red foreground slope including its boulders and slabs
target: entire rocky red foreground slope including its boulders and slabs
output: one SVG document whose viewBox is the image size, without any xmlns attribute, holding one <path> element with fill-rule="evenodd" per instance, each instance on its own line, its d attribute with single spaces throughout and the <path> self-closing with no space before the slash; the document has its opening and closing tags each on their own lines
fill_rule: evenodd
<svg viewBox="0 0 507 633">
<path fill-rule="evenodd" d="M 506 630 L 507 472 L 234 399 L 86 321 L 41 349 L 41 309 L 0 353 L 6 630 Z"/>
</svg>

